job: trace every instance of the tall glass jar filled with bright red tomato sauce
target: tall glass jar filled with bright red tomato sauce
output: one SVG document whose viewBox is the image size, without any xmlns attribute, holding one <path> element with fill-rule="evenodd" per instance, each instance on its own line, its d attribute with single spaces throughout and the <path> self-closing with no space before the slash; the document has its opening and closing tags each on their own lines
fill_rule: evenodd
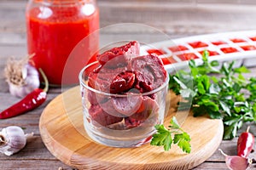
<svg viewBox="0 0 256 170">
<path fill-rule="evenodd" d="M 95 0 L 29 0 L 26 28 L 31 62 L 44 71 L 51 85 L 79 82 L 81 68 L 96 58 L 98 38 L 86 38 L 99 28 Z M 78 45 L 77 56 L 68 59 Z M 68 78 L 63 82 L 67 65 Z"/>
</svg>

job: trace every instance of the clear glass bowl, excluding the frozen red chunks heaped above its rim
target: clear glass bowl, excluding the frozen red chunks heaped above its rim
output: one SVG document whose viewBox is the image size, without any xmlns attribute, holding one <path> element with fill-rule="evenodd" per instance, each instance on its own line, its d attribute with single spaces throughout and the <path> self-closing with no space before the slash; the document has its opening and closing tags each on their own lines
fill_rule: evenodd
<svg viewBox="0 0 256 170">
<path fill-rule="evenodd" d="M 89 73 L 97 66 L 98 62 L 91 63 L 79 73 L 85 131 L 107 146 L 126 148 L 148 143 L 155 133 L 154 125 L 163 123 L 166 115 L 169 77 L 147 93 L 133 88 L 125 94 L 111 94 L 88 84 Z"/>
</svg>

